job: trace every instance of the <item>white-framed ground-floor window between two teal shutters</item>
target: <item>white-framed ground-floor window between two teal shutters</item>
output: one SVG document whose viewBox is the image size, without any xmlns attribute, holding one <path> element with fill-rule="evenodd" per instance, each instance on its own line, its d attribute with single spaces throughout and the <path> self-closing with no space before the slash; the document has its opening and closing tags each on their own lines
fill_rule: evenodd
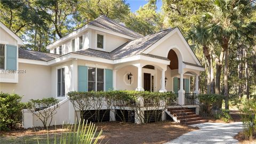
<svg viewBox="0 0 256 144">
<path fill-rule="evenodd" d="M 104 69 L 88 68 L 88 91 L 104 91 Z"/>
</svg>

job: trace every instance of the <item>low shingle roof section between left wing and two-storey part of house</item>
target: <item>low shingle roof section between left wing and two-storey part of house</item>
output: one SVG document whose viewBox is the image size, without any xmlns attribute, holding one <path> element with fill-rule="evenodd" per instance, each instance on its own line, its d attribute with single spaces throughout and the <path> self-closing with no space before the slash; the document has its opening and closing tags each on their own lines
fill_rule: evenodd
<svg viewBox="0 0 256 144">
<path fill-rule="evenodd" d="M 59 54 L 19 49 L 19 58 L 21 59 L 50 61 L 58 57 L 60 57 Z"/>
</svg>

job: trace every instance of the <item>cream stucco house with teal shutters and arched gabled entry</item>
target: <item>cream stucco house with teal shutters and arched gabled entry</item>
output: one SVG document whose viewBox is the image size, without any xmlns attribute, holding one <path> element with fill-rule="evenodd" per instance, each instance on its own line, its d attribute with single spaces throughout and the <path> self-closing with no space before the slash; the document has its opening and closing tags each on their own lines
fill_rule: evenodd
<svg viewBox="0 0 256 144">
<path fill-rule="evenodd" d="M 178 27 L 143 36 L 105 16 L 48 45 L 50 53 L 23 50 L 22 44 L 0 22 L 0 90 L 23 95 L 23 102 L 57 98 L 69 113 L 62 119 L 73 114 L 69 91 L 172 91 L 183 105 L 185 93 L 199 93 L 204 71 Z"/>
</svg>

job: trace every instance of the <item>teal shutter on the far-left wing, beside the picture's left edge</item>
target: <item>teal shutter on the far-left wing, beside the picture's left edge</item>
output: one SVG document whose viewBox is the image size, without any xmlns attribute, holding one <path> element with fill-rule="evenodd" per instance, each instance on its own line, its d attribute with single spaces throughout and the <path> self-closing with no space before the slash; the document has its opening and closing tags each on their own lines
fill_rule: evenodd
<svg viewBox="0 0 256 144">
<path fill-rule="evenodd" d="M 17 70 L 17 46 L 6 45 L 6 69 Z"/>
</svg>

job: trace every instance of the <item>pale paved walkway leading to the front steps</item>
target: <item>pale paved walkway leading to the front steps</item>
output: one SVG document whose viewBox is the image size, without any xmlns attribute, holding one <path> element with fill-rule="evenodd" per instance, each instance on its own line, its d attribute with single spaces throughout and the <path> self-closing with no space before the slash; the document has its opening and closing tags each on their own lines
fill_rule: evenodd
<svg viewBox="0 0 256 144">
<path fill-rule="evenodd" d="M 179 138 L 174 139 L 166 144 L 170 143 L 238 143 L 233 137 L 243 130 L 242 122 L 235 123 L 202 123 L 191 126 L 199 127 L 199 130 L 188 132 L 181 135 Z"/>
</svg>

